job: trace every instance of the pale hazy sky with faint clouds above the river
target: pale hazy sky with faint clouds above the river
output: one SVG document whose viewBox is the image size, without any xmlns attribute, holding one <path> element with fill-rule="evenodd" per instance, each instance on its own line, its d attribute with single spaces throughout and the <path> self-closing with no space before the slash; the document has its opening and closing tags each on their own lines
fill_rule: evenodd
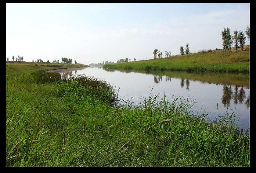
<svg viewBox="0 0 256 173">
<path fill-rule="evenodd" d="M 155 49 L 178 55 L 186 43 L 191 53 L 222 49 L 223 28 L 233 35 L 247 26 L 250 3 L 6 3 L 6 57 L 147 60 Z"/>
</svg>

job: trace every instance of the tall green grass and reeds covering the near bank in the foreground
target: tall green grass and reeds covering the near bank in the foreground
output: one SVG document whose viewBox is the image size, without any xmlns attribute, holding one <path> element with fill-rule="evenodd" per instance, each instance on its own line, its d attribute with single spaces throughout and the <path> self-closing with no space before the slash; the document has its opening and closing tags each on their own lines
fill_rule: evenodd
<svg viewBox="0 0 256 173">
<path fill-rule="evenodd" d="M 6 64 L 8 167 L 250 166 L 249 131 L 232 113 L 212 122 L 193 100 L 159 95 L 134 105 L 105 81 L 52 68 Z"/>
</svg>

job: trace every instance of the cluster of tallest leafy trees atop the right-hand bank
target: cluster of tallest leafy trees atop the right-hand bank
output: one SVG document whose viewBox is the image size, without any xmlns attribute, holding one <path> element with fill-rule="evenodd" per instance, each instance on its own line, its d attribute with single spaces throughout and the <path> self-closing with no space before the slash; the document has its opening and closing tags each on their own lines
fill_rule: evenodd
<svg viewBox="0 0 256 173">
<path fill-rule="evenodd" d="M 248 41 L 250 43 L 250 26 L 247 26 L 244 32 L 247 35 Z M 231 46 L 234 43 L 234 47 L 236 50 L 238 48 L 238 45 L 240 45 L 243 51 L 243 46 L 246 43 L 245 34 L 243 33 L 242 30 L 238 32 L 236 29 L 233 32 L 233 36 L 232 36 L 230 33 L 230 28 L 229 27 L 224 28 L 223 31 L 221 32 L 223 49 L 225 49 L 225 51 L 227 51 L 227 49 L 231 51 Z"/>
</svg>

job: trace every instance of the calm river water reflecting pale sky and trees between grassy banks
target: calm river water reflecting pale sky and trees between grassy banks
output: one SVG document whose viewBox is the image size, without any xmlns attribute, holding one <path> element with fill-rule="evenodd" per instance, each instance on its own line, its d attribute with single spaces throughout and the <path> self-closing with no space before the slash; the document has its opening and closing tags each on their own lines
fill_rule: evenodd
<svg viewBox="0 0 256 173">
<path fill-rule="evenodd" d="M 118 96 L 124 101 L 143 102 L 151 95 L 166 95 L 170 101 L 173 97 L 188 98 L 195 102 L 194 114 L 208 113 L 207 118 L 216 119 L 216 115 L 225 116 L 234 112 L 239 115 L 241 128 L 250 126 L 250 81 L 232 77 L 204 76 L 200 74 L 171 74 L 158 72 L 146 74 L 133 71 L 104 70 L 102 67 L 84 67 L 76 69 L 55 70 L 62 76 L 85 75 L 99 78 L 113 85 Z M 177 77 L 177 76 L 189 76 Z M 230 82 L 232 81 L 232 82 Z M 153 89 L 152 89 L 153 88 Z M 120 99 L 119 98 L 119 99 Z M 218 106 L 218 109 L 217 109 Z"/>
</svg>

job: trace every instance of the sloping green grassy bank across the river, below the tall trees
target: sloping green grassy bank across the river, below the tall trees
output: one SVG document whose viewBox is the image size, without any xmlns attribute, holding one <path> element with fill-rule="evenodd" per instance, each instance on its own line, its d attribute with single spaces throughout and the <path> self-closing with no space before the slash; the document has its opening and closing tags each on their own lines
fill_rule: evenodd
<svg viewBox="0 0 256 173">
<path fill-rule="evenodd" d="M 241 48 L 240 48 L 241 49 Z M 143 71 L 225 72 L 250 74 L 250 47 L 241 50 L 214 50 L 174 55 L 142 61 L 105 64 L 104 69 L 132 69 Z M 152 55 L 153 56 L 153 55 Z"/>
</svg>

